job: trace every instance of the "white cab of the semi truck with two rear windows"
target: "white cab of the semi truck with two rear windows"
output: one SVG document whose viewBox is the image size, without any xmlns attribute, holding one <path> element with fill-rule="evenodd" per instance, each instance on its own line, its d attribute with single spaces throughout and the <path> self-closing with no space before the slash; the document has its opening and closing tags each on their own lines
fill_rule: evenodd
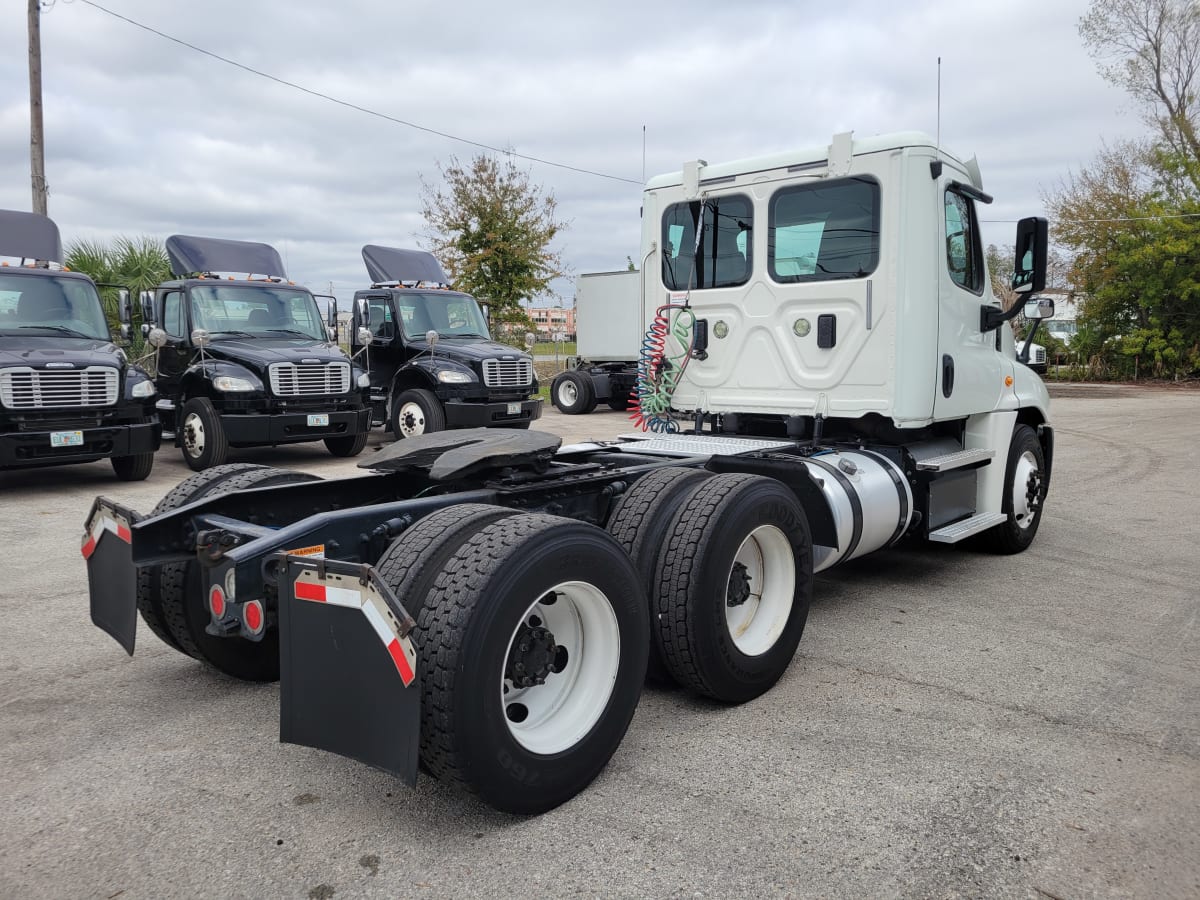
<svg viewBox="0 0 1200 900">
<path fill-rule="evenodd" d="M 926 538 L 998 528 L 1027 544 L 1032 528 L 1014 530 L 1012 510 L 1044 497 L 1054 432 L 1045 385 L 1018 365 L 1004 323 L 1022 308 L 1054 314 L 1051 300 L 1028 301 L 1045 284 L 1046 223 L 1018 226 L 1025 302 L 1003 312 L 977 211 L 990 202 L 973 158 L 918 132 L 836 134 L 652 179 L 642 421 L 869 440 L 907 460 Z M 1032 463 L 1008 457 L 1034 438 L 1021 458 L 1044 464 L 1027 485 Z"/>
</svg>

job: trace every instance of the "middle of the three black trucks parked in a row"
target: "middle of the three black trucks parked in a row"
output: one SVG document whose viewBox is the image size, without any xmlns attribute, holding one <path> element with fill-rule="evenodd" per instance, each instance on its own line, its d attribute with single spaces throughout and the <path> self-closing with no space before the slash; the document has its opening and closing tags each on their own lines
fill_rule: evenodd
<svg viewBox="0 0 1200 900">
<path fill-rule="evenodd" d="M 334 456 L 361 452 L 366 373 L 330 340 L 312 293 L 286 281 L 278 253 L 187 235 L 168 238 L 167 253 L 180 277 L 143 302 L 158 415 L 185 462 L 202 470 L 230 446 L 311 440 Z"/>
</svg>

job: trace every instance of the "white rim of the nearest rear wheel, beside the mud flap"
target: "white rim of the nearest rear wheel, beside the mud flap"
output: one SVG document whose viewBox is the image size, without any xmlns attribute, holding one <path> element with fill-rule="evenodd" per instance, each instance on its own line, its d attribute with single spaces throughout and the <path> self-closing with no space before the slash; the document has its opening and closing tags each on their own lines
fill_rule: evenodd
<svg viewBox="0 0 1200 900">
<path fill-rule="evenodd" d="M 542 602 L 551 596 L 553 602 Z M 520 659 L 518 637 L 527 625 L 553 635 L 565 650 L 565 665 L 542 684 L 520 688 L 508 672 Z M 619 668 L 620 629 L 605 593 L 582 581 L 556 584 L 526 610 L 509 638 L 500 671 L 500 714 L 509 733 L 529 752 L 569 750 L 600 720 Z"/>
</svg>

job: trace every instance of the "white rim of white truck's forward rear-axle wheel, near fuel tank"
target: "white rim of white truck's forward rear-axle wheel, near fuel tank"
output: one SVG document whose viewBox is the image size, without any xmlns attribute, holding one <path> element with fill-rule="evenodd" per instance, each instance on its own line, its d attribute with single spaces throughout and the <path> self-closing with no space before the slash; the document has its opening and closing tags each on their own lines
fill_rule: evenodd
<svg viewBox="0 0 1200 900">
<path fill-rule="evenodd" d="M 742 541 L 730 578 L 745 566 L 749 596 L 731 606 L 725 602 L 725 623 L 733 646 L 746 656 L 761 656 L 784 634 L 796 598 L 796 558 L 792 545 L 775 526 L 760 526 Z"/>
</svg>

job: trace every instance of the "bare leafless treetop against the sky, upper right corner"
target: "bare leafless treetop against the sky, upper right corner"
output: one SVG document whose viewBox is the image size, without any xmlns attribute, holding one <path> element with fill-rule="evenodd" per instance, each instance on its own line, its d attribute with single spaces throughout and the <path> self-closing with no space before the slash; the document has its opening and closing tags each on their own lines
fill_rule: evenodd
<svg viewBox="0 0 1200 900">
<path fill-rule="evenodd" d="M 1200 162 L 1200 2 L 1093 0 L 1079 34 L 1100 74 L 1142 104 L 1171 150 Z"/>
</svg>

